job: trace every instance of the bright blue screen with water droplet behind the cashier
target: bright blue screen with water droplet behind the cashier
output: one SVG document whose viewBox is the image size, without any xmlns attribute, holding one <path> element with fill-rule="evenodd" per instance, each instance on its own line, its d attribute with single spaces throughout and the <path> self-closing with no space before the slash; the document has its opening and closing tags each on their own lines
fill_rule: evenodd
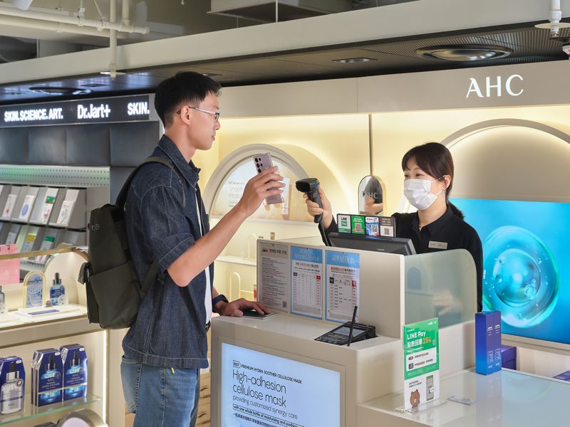
<svg viewBox="0 0 570 427">
<path fill-rule="evenodd" d="M 453 199 L 483 244 L 483 310 L 504 334 L 570 344 L 570 204 Z"/>
</svg>

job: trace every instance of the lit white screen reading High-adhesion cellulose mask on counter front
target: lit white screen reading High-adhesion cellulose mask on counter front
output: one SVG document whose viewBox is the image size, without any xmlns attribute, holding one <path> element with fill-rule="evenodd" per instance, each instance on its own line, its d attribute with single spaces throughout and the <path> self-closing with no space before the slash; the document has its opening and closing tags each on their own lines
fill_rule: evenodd
<svg viewBox="0 0 570 427">
<path fill-rule="evenodd" d="M 222 427 L 340 426 L 341 374 L 222 343 Z"/>
</svg>

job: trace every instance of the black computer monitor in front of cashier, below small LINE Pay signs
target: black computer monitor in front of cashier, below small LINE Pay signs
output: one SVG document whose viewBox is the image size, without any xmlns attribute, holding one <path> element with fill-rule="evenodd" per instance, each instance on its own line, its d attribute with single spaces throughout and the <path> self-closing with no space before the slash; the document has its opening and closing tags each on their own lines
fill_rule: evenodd
<svg viewBox="0 0 570 427">
<path fill-rule="evenodd" d="M 329 233 L 328 238 L 332 245 L 338 248 L 415 255 L 415 248 L 409 238 L 373 237 L 363 234 L 340 233 Z"/>
</svg>

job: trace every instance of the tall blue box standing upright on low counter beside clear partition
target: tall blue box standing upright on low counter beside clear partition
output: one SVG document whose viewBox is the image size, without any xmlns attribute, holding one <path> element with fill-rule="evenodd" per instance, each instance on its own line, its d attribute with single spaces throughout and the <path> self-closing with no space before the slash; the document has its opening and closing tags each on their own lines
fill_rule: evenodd
<svg viewBox="0 0 570 427">
<path fill-rule="evenodd" d="M 475 371 L 492 374 L 501 370 L 501 312 L 475 313 Z"/>
</svg>

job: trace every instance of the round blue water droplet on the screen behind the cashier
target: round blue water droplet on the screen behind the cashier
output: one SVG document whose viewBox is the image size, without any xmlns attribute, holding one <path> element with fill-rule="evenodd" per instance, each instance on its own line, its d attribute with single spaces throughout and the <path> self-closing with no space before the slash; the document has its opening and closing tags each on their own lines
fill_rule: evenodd
<svg viewBox="0 0 570 427">
<path fill-rule="evenodd" d="M 483 253 L 483 269 L 491 273 L 494 285 L 484 295 L 490 310 L 499 310 L 503 322 L 519 328 L 549 317 L 558 298 L 558 268 L 538 236 L 525 228 L 502 226 L 484 241 Z"/>
</svg>

